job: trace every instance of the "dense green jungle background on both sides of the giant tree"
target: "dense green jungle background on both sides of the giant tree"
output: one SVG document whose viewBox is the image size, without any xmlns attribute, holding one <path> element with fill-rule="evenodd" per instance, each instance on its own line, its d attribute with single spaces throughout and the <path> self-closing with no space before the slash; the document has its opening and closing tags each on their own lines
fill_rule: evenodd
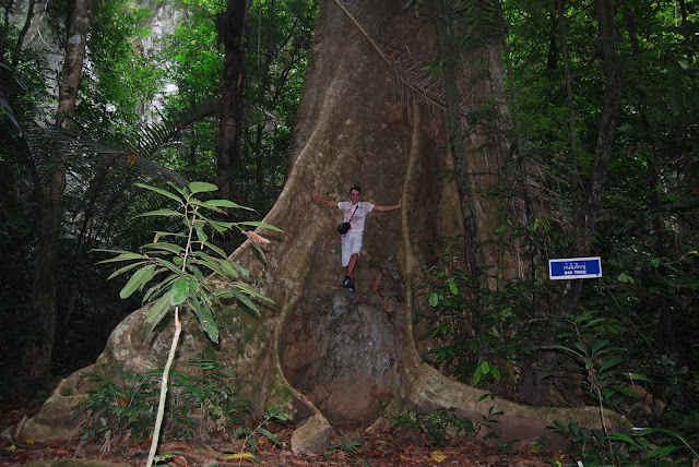
<svg viewBox="0 0 699 467">
<path fill-rule="evenodd" d="M 475 292 L 463 290 L 477 289 L 477 265 L 454 268 L 453 259 L 464 256 L 460 239 L 424 246 L 435 251 L 419 286 L 429 306 L 417 316 L 425 359 L 457 381 L 541 405 L 546 392 L 528 378 L 544 370 L 521 362 L 546 362 L 542 346 L 557 346 L 564 356 L 582 355 L 587 371 L 589 349 L 595 360 L 589 367 L 623 366 L 648 379 L 642 392 L 606 386 L 605 404 L 629 417 L 640 404 L 641 426 L 672 428 L 696 448 L 697 7 L 682 0 L 446 5 L 450 22 L 489 19 L 481 27 L 501 39 L 509 124 L 498 137 L 508 142 L 513 165 L 526 167 L 546 211 L 498 226 L 526 247 L 525 267 L 538 273 L 482 298 L 498 313 L 467 324 L 464 310 Z M 220 197 L 259 218 L 274 205 L 296 154 L 293 129 L 318 3 L 5 0 L 2 7 L 0 390 L 2 403 L 12 405 L 40 400 L 58 380 L 95 361 L 115 326 L 141 306 L 138 297 L 118 299 L 126 278 L 107 280 L 112 270 L 93 252 L 134 251 L 151 241 L 155 220 L 134 215 L 157 201 L 133 182 L 210 181 Z M 420 7 L 408 2 L 405 14 L 436 21 Z M 67 92 L 73 96 L 67 113 L 59 89 L 75 67 L 69 31 L 85 25 L 79 15 L 85 8 L 83 72 Z M 595 14 L 605 9 L 614 23 L 609 36 L 600 34 Z M 473 47 L 467 34 L 455 38 L 464 50 Z M 611 58 L 616 74 L 605 67 Z M 439 73 L 448 62 L 420 65 Z M 467 119 L 493 112 L 483 106 Z M 603 164 L 601 145 L 608 148 Z M 55 204 L 57 176 L 62 193 Z M 435 176 L 459 183 L 458 170 Z M 508 189 L 487 194 L 507 196 Z M 599 208 L 587 211 L 591 226 L 580 213 L 596 192 Z M 48 212 L 58 212 L 52 240 L 43 237 L 51 235 Z M 234 221 L 249 216 L 232 215 Z M 576 251 L 583 235 L 590 248 Z M 221 246 L 229 253 L 244 239 L 224 238 Z M 51 244 L 54 253 L 43 250 Z M 546 259 L 582 254 L 602 258 L 603 278 L 576 282 L 574 294 L 547 280 Z M 572 307 L 546 303 L 571 295 Z M 552 320 L 550 330 L 542 324 Z M 520 364 L 508 367 L 514 355 Z M 529 392 L 528 384 L 534 385 Z M 583 404 L 585 390 L 564 391 L 558 403 Z"/>
</svg>

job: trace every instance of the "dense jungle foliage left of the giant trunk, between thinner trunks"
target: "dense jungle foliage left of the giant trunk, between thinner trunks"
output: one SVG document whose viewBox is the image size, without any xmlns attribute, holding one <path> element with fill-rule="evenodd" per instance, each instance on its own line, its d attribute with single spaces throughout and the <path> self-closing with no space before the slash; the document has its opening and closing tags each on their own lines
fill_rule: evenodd
<svg viewBox="0 0 699 467">
<path fill-rule="evenodd" d="M 45 338 L 28 296 L 49 148 L 60 145 L 67 167 L 54 343 L 54 373 L 62 375 L 94 361 L 116 324 L 139 306 L 133 299 L 114 301 L 123 283 L 107 283 L 109 272 L 90 253 L 104 247 L 135 249 L 157 229 L 156 220 L 134 218 L 157 201 L 134 190 L 132 182 L 170 181 L 181 187 L 186 180 L 215 179 L 216 98 L 224 55 L 215 22 L 226 5 L 96 2 L 78 93 L 80 137 L 47 128 L 55 112 L 69 12 L 50 4 L 40 12 L 45 21 L 39 23 L 12 2 L 2 7 L 9 21 L 0 26 L 0 323 L 7 356 L 1 364 L 8 375 L 2 378 L 8 383 L 2 397 L 8 397 L 23 349 Z M 256 217 L 273 205 L 284 183 L 317 8 L 308 1 L 250 5 L 245 160 L 236 201 L 253 207 Z M 24 22 L 29 34 L 22 36 Z M 19 40 L 21 53 L 13 68 Z"/>
</svg>

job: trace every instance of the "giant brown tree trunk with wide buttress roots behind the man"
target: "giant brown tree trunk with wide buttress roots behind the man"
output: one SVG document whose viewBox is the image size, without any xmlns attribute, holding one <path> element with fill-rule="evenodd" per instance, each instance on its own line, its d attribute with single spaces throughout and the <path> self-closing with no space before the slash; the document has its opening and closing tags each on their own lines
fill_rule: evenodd
<svg viewBox="0 0 699 467">
<path fill-rule="evenodd" d="M 381 47 L 381 37 L 366 31 L 379 31 L 395 48 Z M 401 47 L 400 41 L 408 39 L 414 39 L 411 47 Z M 545 426 L 555 418 L 594 424 L 594 410 L 592 417 L 550 408 L 538 412 L 502 399 L 486 400 L 483 391 L 426 364 L 417 348 L 415 315 L 424 303 L 415 285 L 430 260 L 417 240 L 464 232 L 457 187 L 436 175 L 453 169 L 445 151 L 449 132 L 443 106 L 418 92 L 401 68 L 401 60 L 436 57 L 438 48 L 434 23 L 404 13 L 402 2 L 321 4 L 296 121 L 297 149 L 286 185 L 264 218 L 284 232 L 260 232 L 271 240 L 265 260 L 250 242 L 230 256 L 250 271 L 250 279 L 274 304 L 264 308 L 261 318 L 235 303 L 218 310 L 221 342 L 215 348 L 190 319 L 177 368 L 185 370 L 191 357 L 213 352 L 221 364 L 236 369 L 233 383 L 256 411 L 277 407 L 298 422 L 324 416 L 333 423 L 368 426 L 379 417 L 382 403 L 391 402 L 390 415 L 414 407 L 455 407 L 458 415 L 482 420 L 491 408 L 502 409 L 500 442 L 529 443 L 538 436 L 552 442 L 556 436 Z M 486 55 L 491 67 L 481 76 L 501 76 L 499 45 L 484 45 L 478 53 Z M 467 110 L 491 97 L 499 84 L 474 80 L 477 73 L 465 71 L 471 80 L 464 82 L 473 85 Z M 471 128 L 464 142 L 467 154 L 488 146 L 467 160 L 472 191 L 481 193 L 497 183 L 503 156 L 486 144 L 493 143 L 494 133 L 475 130 Z M 355 272 L 357 292 L 352 294 L 341 286 L 344 268 L 335 229 L 341 213 L 311 203 L 311 193 L 316 189 L 323 199 L 342 201 L 355 184 L 363 188 L 364 201 L 390 205 L 402 199 L 402 208 L 368 215 Z M 490 277 L 517 275 L 511 247 L 500 243 L 496 234 L 501 207 L 482 194 L 470 195 L 483 240 L 479 253 L 494 271 Z M 502 273 L 497 273 L 501 264 Z M 147 307 L 138 310 L 115 330 L 95 371 L 118 381 L 121 371 L 140 373 L 163 364 L 162 349 L 173 331 L 143 343 L 146 314 Z M 44 410 L 23 434 L 40 430 L 37 426 L 48 418 Z"/>
</svg>

